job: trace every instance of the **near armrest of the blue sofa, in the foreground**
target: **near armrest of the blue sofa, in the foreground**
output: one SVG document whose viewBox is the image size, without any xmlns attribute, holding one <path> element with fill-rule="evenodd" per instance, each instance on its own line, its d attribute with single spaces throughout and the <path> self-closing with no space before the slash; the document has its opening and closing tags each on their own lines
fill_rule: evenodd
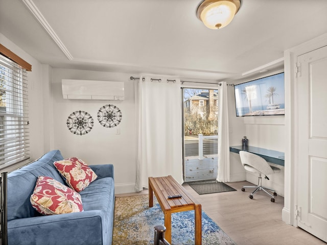
<svg viewBox="0 0 327 245">
<path fill-rule="evenodd" d="M 8 244 L 103 244 L 108 242 L 104 216 L 92 210 L 13 219 L 8 222 Z"/>
</svg>

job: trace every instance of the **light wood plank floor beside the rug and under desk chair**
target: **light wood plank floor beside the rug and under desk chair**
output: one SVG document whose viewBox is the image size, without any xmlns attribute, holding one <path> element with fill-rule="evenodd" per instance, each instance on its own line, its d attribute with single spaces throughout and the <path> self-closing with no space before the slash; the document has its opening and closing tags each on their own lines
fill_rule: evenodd
<svg viewBox="0 0 327 245">
<path fill-rule="evenodd" d="M 286 225 L 282 221 L 284 198 L 277 195 L 275 203 L 263 191 L 249 199 L 250 190 L 241 191 L 249 182 L 227 183 L 237 191 L 199 195 L 189 185 L 183 185 L 202 205 L 202 210 L 238 245 L 319 245 L 327 243 L 310 233 Z M 147 194 L 117 194 L 116 196 Z M 278 193 L 277 193 L 278 194 Z"/>
</svg>

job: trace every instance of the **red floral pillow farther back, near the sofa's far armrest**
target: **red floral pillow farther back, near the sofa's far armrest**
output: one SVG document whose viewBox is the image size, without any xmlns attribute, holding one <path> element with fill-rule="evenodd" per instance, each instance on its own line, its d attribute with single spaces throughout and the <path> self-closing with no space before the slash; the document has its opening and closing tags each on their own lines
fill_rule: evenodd
<svg viewBox="0 0 327 245">
<path fill-rule="evenodd" d="M 77 192 L 84 190 L 98 177 L 85 162 L 76 157 L 56 161 L 54 165 L 65 178 L 67 185 Z"/>
</svg>

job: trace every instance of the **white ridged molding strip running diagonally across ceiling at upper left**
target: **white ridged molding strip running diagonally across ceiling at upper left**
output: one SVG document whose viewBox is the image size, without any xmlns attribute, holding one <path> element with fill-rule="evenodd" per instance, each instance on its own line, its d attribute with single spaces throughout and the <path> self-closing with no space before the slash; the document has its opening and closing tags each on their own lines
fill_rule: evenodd
<svg viewBox="0 0 327 245">
<path fill-rule="evenodd" d="M 55 43 L 58 45 L 60 50 L 64 53 L 64 55 L 67 57 L 68 60 L 73 60 L 73 56 L 63 42 L 60 40 L 58 35 L 55 33 L 55 31 L 52 29 L 48 21 L 44 18 L 42 13 L 39 11 L 39 9 L 36 7 L 36 5 L 33 3 L 32 0 L 22 0 L 22 2 L 26 5 L 26 7 L 30 10 L 30 12 L 34 15 L 36 20 L 41 24 L 41 26 L 44 28 L 46 32 L 50 35 L 50 37 L 55 41 Z"/>
</svg>

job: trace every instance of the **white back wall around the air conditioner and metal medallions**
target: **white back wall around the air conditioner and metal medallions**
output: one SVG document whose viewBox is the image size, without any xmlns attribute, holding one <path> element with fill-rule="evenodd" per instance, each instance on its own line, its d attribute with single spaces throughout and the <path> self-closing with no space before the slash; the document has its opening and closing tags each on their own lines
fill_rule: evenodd
<svg viewBox="0 0 327 245">
<path fill-rule="evenodd" d="M 125 83 L 124 101 L 65 100 L 62 97 L 62 79 L 118 81 Z M 114 165 L 115 193 L 133 192 L 136 173 L 136 127 L 134 82 L 126 74 L 74 69 L 52 69 L 53 94 L 53 145 L 64 158 L 79 157 L 90 165 L 111 163 Z M 117 127 L 100 125 L 97 113 L 104 105 L 115 105 L 122 111 L 122 121 Z M 74 111 L 86 111 L 94 119 L 94 127 L 85 135 L 71 133 L 66 125 Z M 116 134 L 116 129 L 120 134 Z M 50 137 L 51 139 L 51 137 Z"/>
</svg>

